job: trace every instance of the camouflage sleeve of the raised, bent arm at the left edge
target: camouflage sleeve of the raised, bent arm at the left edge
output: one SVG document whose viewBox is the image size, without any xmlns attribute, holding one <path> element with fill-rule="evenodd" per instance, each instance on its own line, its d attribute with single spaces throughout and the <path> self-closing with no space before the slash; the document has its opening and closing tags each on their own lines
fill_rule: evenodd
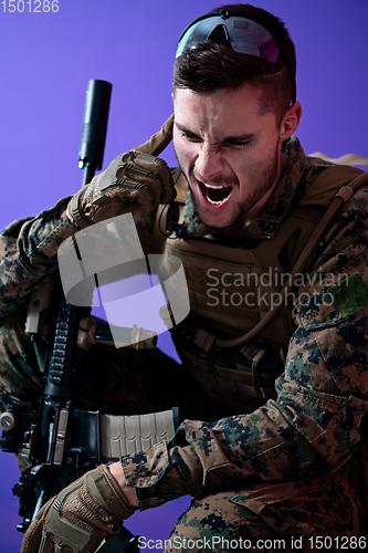
<svg viewBox="0 0 368 553">
<path fill-rule="evenodd" d="M 40 279 L 56 269 L 59 246 L 76 230 L 66 217 L 69 200 L 0 232 L 0 317 L 22 309 Z"/>
</svg>

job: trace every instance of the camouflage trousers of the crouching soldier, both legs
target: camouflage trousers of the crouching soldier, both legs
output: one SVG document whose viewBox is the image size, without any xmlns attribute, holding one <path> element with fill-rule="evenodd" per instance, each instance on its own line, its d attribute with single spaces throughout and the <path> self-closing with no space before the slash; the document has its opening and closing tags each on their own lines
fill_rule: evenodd
<svg viewBox="0 0 368 553">
<path fill-rule="evenodd" d="M 44 386 L 44 352 L 25 336 L 24 317 L 20 312 L 0 325 L 2 408 L 13 401 L 35 408 Z M 182 375 L 181 366 L 158 348 L 95 346 L 81 369 L 77 407 L 135 415 L 179 406 L 185 416 L 197 418 L 206 414 L 199 396 Z M 166 551 L 312 552 L 320 550 L 313 541 L 316 536 L 329 540 L 323 550 L 339 551 L 337 545 L 343 542 L 333 539 L 345 538 L 359 551 L 351 541 L 359 522 L 354 520 L 354 509 L 346 500 L 357 495 L 357 473 L 353 460 L 333 476 L 301 482 L 295 497 L 278 497 L 276 487 L 273 501 L 259 510 L 250 509 L 241 489 L 196 499 L 178 520 Z M 349 491 L 341 493 L 341 487 Z"/>
</svg>

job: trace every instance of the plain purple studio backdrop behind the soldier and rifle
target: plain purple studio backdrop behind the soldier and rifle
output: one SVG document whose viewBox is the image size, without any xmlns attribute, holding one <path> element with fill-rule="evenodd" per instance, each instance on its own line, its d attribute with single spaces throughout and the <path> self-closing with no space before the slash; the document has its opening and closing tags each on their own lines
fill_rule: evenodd
<svg viewBox="0 0 368 553">
<path fill-rule="evenodd" d="M 297 132 L 306 153 L 368 156 L 367 0 L 257 0 L 280 15 L 296 43 Z M 0 2 L 0 227 L 35 215 L 78 190 L 84 98 L 90 79 L 113 84 L 104 156 L 155 133 L 171 113 L 177 40 L 213 0 L 4 0 Z M 175 164 L 172 148 L 164 155 Z M 134 322 L 133 322 L 134 324 Z M 161 347 L 170 351 L 167 336 Z M 0 553 L 20 551 L 19 479 L 0 452 Z M 136 513 L 127 523 L 151 540 L 168 538 L 189 499 Z M 153 542 L 151 551 L 162 551 Z"/>
</svg>

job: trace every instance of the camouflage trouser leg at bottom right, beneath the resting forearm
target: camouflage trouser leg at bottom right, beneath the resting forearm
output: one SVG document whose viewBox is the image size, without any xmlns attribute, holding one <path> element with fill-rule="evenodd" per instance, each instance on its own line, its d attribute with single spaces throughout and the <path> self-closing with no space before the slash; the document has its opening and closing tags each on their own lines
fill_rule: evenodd
<svg viewBox="0 0 368 553">
<path fill-rule="evenodd" d="M 241 491 L 192 500 L 165 552 L 365 551 L 366 536 L 354 535 L 351 509 L 335 477 L 323 480 L 302 483 L 298 495 L 274 500 L 260 513 L 246 507 Z"/>
</svg>

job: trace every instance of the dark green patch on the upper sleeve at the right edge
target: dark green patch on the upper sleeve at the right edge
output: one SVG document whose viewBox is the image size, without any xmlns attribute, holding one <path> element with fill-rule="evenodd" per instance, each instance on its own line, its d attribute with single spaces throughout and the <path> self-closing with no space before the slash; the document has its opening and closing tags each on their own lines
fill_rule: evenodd
<svg viewBox="0 0 368 553">
<path fill-rule="evenodd" d="M 327 292 L 341 316 L 349 316 L 368 307 L 368 284 L 360 273 L 350 274 L 339 284 L 329 286 Z"/>
</svg>

